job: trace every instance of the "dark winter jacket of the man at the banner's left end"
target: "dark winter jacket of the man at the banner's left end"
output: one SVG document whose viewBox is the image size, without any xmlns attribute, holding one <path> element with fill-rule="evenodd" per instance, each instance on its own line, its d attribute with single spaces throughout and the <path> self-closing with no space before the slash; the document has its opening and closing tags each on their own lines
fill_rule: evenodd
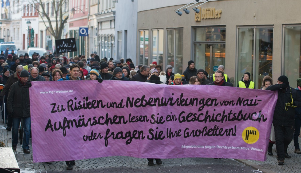
<svg viewBox="0 0 301 173">
<path fill-rule="evenodd" d="M 30 117 L 29 88 L 20 81 L 11 85 L 7 98 L 7 110 L 9 113 L 14 112 L 13 118 Z"/>
</svg>

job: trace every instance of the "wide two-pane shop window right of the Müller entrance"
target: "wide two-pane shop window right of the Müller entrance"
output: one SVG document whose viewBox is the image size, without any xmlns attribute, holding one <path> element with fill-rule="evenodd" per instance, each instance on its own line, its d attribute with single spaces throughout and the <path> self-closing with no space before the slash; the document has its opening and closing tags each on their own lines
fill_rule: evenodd
<svg viewBox="0 0 301 173">
<path fill-rule="evenodd" d="M 272 62 L 273 28 L 238 28 L 236 85 L 249 72 L 259 89 L 264 76 L 272 77 Z"/>
</svg>

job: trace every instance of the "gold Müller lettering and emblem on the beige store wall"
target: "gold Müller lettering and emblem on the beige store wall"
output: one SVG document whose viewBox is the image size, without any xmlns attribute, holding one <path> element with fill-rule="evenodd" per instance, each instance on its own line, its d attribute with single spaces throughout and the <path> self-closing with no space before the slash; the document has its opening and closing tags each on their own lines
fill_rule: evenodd
<svg viewBox="0 0 301 173">
<path fill-rule="evenodd" d="M 201 19 L 217 19 L 221 18 L 222 10 L 215 10 L 215 8 L 198 8 L 200 13 L 195 13 L 194 20 L 201 21 Z"/>
</svg>

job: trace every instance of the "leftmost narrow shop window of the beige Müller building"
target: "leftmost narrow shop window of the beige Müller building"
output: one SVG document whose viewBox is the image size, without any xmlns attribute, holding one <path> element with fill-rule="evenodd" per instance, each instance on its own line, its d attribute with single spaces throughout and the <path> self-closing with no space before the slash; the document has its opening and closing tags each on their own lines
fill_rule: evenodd
<svg viewBox="0 0 301 173">
<path fill-rule="evenodd" d="M 148 64 L 148 31 L 139 31 L 140 47 L 139 47 L 139 64 Z"/>
</svg>

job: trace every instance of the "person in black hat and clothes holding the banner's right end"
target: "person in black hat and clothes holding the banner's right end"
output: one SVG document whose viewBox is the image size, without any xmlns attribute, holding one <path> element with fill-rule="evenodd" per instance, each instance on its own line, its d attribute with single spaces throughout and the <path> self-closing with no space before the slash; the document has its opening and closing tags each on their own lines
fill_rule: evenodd
<svg viewBox="0 0 301 173">
<path fill-rule="evenodd" d="M 301 107 L 301 98 L 298 97 L 296 89 L 290 87 L 289 84 L 286 76 L 280 76 L 277 84 L 265 89 L 278 91 L 273 116 L 278 165 L 284 165 L 284 157 L 291 158 L 287 154 L 287 147 L 293 140 L 295 107 Z"/>
</svg>

